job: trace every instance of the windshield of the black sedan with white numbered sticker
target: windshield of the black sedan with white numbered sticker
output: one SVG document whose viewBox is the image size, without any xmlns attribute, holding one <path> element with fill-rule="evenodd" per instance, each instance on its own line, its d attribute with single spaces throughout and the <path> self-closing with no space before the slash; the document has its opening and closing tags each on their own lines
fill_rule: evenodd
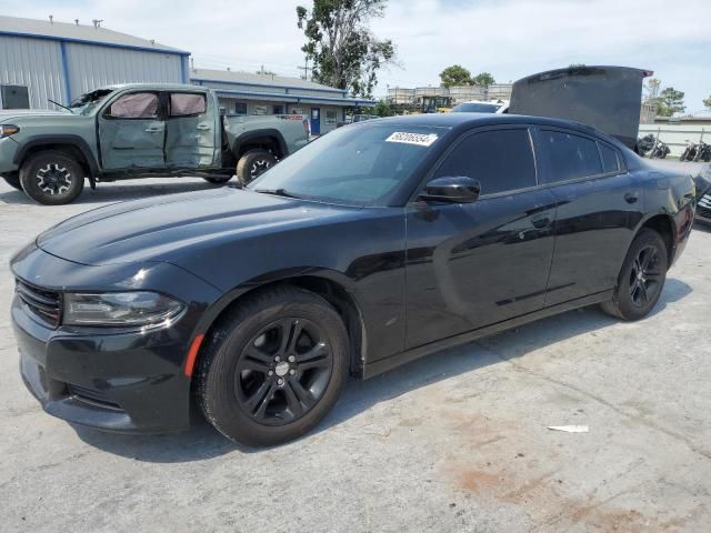
<svg viewBox="0 0 711 533">
<path fill-rule="evenodd" d="M 331 131 L 249 184 L 272 192 L 352 205 L 388 205 L 444 128 L 379 121 Z"/>
</svg>

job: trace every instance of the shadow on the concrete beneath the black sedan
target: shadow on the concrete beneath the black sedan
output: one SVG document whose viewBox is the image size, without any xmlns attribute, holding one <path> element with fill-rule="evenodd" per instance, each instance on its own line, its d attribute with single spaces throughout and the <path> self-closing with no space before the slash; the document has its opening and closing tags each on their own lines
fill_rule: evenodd
<svg viewBox="0 0 711 533">
<path fill-rule="evenodd" d="M 691 293 L 691 290 L 680 280 L 668 279 L 653 314 L 662 312 L 668 304 L 683 299 Z M 603 314 L 597 308 L 589 308 L 517 328 L 490 338 L 490 341 L 497 345 L 497 351 L 507 350 L 513 352 L 513 358 L 523 358 L 530 351 L 602 330 L 614 323 L 617 323 L 614 319 Z M 364 382 L 350 380 L 337 406 L 311 434 L 328 431 L 380 402 L 454 375 L 502 362 L 503 359 L 494 351 L 475 341 L 432 354 Z M 76 428 L 76 431 L 86 443 L 106 452 L 156 463 L 199 461 L 236 451 L 241 453 L 263 451 L 231 443 L 199 415 L 194 416 L 194 424 L 190 430 L 177 434 L 121 435 L 86 428 Z"/>
</svg>

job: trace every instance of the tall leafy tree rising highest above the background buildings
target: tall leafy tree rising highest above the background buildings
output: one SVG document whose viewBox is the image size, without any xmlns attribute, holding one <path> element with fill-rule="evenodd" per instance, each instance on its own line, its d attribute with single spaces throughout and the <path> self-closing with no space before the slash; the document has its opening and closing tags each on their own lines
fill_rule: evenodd
<svg viewBox="0 0 711 533">
<path fill-rule="evenodd" d="M 389 39 L 378 39 L 369 28 L 383 16 L 388 0 L 313 0 L 309 11 L 297 7 L 297 26 L 307 43 L 301 50 L 313 61 L 314 81 L 372 97 L 378 70 L 395 61 Z"/>
</svg>

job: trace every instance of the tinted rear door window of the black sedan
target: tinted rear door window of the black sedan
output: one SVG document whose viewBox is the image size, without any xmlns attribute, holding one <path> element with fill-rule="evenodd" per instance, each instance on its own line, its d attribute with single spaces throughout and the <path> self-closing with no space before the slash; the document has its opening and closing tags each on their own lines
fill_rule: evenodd
<svg viewBox="0 0 711 533">
<path fill-rule="evenodd" d="M 555 130 L 541 130 L 539 137 L 548 170 L 543 178 L 544 183 L 602 173 L 602 162 L 595 141 Z"/>
</svg>

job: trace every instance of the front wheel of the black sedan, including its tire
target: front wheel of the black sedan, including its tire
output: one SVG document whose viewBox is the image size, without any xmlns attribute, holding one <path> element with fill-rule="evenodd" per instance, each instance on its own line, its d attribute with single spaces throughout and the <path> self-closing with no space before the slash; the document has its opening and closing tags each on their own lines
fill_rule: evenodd
<svg viewBox="0 0 711 533">
<path fill-rule="evenodd" d="M 213 328 L 196 376 L 198 403 L 228 439 L 280 444 L 336 404 L 348 354 L 346 326 L 326 300 L 296 286 L 267 290 Z"/>
</svg>

